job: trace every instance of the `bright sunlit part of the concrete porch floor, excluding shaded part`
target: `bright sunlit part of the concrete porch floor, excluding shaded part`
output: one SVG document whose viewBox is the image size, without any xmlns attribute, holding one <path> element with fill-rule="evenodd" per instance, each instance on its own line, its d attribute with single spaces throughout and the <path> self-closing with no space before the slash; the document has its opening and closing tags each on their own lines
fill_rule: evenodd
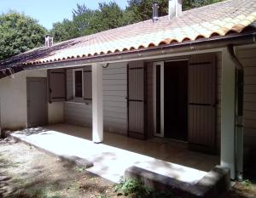
<svg viewBox="0 0 256 198">
<path fill-rule="evenodd" d="M 94 166 L 87 169 L 90 173 L 115 183 L 124 176 L 125 169 L 132 166 L 142 167 L 189 184 L 196 184 L 207 174 L 195 168 L 184 167 L 107 144 L 94 144 L 90 140 L 59 133 L 45 127 L 29 128 L 10 135 L 56 156 L 72 156 L 91 161 Z"/>
</svg>

